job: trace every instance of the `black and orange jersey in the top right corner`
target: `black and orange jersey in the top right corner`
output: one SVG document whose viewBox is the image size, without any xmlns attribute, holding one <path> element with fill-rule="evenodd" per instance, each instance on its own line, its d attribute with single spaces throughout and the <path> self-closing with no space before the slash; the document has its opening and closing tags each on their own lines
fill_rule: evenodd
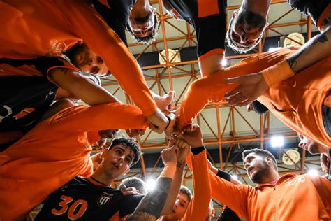
<svg viewBox="0 0 331 221">
<path fill-rule="evenodd" d="M 331 22 L 331 0 L 288 0 L 288 3 L 304 15 L 309 15 L 318 29 L 321 29 L 323 22 Z"/>
</svg>

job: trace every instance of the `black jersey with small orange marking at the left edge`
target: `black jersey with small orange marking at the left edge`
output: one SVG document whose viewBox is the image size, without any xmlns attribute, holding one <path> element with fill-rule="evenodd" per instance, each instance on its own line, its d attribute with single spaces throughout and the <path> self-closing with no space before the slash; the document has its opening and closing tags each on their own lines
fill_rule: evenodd
<svg viewBox="0 0 331 221">
<path fill-rule="evenodd" d="M 57 89 L 43 76 L 0 77 L 0 131 L 29 131 L 50 108 Z"/>
</svg>

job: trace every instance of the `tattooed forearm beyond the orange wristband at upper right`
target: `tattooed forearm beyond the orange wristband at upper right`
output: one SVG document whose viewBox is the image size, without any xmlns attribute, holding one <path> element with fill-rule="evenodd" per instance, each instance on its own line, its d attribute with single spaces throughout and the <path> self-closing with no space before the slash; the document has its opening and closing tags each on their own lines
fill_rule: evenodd
<svg viewBox="0 0 331 221">
<path fill-rule="evenodd" d="M 331 27 L 323 31 L 318 36 L 311 38 L 295 54 L 288 57 L 287 62 L 295 72 L 305 69 L 311 64 L 321 61 L 331 55 Z"/>
</svg>

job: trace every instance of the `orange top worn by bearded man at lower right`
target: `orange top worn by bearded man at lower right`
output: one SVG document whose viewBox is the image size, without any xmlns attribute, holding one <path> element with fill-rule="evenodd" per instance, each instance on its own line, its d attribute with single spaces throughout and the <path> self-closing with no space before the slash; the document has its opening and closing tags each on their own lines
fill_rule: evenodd
<svg viewBox="0 0 331 221">
<path fill-rule="evenodd" d="M 247 221 L 330 220 L 331 183 L 321 176 L 288 173 L 275 185 L 234 185 L 209 172 L 212 197 Z"/>
</svg>

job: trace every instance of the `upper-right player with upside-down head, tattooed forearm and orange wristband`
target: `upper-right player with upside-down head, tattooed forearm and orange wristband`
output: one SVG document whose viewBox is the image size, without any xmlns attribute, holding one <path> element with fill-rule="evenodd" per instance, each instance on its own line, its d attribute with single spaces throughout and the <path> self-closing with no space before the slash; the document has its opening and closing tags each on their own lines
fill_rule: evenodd
<svg viewBox="0 0 331 221">
<path fill-rule="evenodd" d="M 311 38 L 297 52 L 268 69 L 247 76 L 228 79 L 228 83 L 240 86 L 225 94 L 232 105 L 244 106 L 255 101 L 269 87 L 286 80 L 312 64 L 331 55 L 331 0 L 309 1 L 288 0 L 292 8 L 309 15 L 321 31 Z M 270 0 L 244 0 L 235 10 L 226 38 L 234 50 L 247 52 L 260 41 L 267 26 Z"/>
</svg>

